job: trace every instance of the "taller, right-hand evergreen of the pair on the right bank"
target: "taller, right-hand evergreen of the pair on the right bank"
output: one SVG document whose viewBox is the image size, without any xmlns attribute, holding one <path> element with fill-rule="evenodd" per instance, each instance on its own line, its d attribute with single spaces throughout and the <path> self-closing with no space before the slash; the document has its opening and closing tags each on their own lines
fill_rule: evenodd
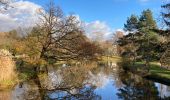
<svg viewBox="0 0 170 100">
<path fill-rule="evenodd" d="M 141 59 L 146 62 L 146 66 L 149 66 L 149 62 L 155 55 L 155 43 L 158 41 L 158 34 L 153 29 L 157 29 L 157 25 L 152 11 L 149 9 L 144 10 L 139 18 L 139 31 L 142 33 L 142 36 L 138 43 L 140 44 L 138 55 L 141 55 Z"/>
</svg>

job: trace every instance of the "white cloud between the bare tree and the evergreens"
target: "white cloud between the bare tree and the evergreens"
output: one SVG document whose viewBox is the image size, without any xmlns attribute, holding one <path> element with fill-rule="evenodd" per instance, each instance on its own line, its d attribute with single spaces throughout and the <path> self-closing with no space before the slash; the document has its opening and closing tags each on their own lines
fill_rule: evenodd
<svg viewBox="0 0 170 100">
<path fill-rule="evenodd" d="M 102 21 L 93 21 L 84 24 L 87 37 L 92 40 L 106 40 L 113 33 L 112 29 Z"/>
</svg>

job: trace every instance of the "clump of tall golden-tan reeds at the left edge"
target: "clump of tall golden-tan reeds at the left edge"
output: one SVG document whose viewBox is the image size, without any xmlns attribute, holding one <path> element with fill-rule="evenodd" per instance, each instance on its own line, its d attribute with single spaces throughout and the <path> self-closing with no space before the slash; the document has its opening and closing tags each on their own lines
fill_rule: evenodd
<svg viewBox="0 0 170 100">
<path fill-rule="evenodd" d="M 9 87 L 15 84 L 17 74 L 15 62 L 7 50 L 0 50 L 0 87 Z"/>
</svg>

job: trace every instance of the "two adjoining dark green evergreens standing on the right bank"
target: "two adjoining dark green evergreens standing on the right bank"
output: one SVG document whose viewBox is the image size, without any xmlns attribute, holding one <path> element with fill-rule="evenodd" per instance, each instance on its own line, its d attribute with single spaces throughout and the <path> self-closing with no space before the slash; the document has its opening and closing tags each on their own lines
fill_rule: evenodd
<svg viewBox="0 0 170 100">
<path fill-rule="evenodd" d="M 158 34 L 153 30 L 157 29 L 156 21 L 153 18 L 151 10 L 144 10 L 141 16 L 131 15 L 124 24 L 124 30 L 129 34 L 118 41 L 124 48 L 122 56 L 131 59 L 145 61 L 148 68 L 149 62 L 155 59 L 155 51 L 158 42 Z"/>
</svg>

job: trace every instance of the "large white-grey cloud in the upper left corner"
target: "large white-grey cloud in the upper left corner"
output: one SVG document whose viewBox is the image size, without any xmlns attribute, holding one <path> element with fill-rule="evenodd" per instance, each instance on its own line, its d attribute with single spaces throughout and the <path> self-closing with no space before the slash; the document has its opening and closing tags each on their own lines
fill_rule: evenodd
<svg viewBox="0 0 170 100">
<path fill-rule="evenodd" d="M 20 26 L 31 27 L 37 23 L 37 11 L 41 6 L 29 1 L 17 1 L 10 5 L 13 8 L 1 11 L 0 31 L 9 31 Z"/>
</svg>

